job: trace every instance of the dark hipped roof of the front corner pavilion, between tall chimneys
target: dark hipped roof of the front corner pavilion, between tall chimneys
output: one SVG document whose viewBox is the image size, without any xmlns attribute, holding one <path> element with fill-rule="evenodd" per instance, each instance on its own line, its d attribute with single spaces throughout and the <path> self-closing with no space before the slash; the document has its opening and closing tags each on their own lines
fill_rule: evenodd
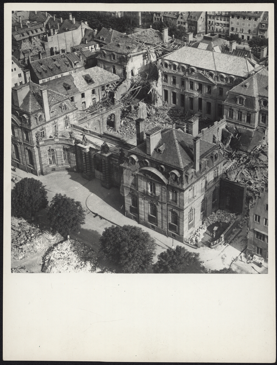
<svg viewBox="0 0 277 365">
<path fill-rule="evenodd" d="M 161 139 L 156 147 L 161 146 L 164 143 L 165 149 L 162 153 L 159 153 L 154 149 L 151 159 L 163 165 L 168 165 L 179 170 L 186 170 L 193 165 L 193 151 L 191 150 L 191 148 L 193 148 L 193 138 L 192 135 L 174 128 L 164 129 L 161 131 Z M 201 139 L 200 158 L 205 157 L 210 150 L 215 148 L 216 146 L 213 143 Z M 132 148 L 130 152 L 147 158 L 146 142 Z"/>
</svg>

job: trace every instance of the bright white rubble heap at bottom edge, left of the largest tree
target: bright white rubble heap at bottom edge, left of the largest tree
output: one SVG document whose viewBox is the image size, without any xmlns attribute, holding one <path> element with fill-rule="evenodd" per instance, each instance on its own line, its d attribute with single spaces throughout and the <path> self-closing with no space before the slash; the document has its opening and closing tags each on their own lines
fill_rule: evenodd
<svg viewBox="0 0 277 365">
<path fill-rule="evenodd" d="M 96 270 L 94 250 L 80 241 L 68 239 L 51 247 L 43 257 L 44 273 L 92 273 Z"/>
</svg>

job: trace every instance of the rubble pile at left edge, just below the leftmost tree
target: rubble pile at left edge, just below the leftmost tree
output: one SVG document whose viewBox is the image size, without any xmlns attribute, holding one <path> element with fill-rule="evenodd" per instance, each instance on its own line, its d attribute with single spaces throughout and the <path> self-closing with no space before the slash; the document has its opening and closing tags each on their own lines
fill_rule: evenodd
<svg viewBox="0 0 277 365">
<path fill-rule="evenodd" d="M 22 260 L 32 254 L 46 250 L 60 240 L 55 236 L 41 232 L 39 228 L 26 222 L 25 219 L 11 219 L 11 255 L 15 260 Z"/>
</svg>

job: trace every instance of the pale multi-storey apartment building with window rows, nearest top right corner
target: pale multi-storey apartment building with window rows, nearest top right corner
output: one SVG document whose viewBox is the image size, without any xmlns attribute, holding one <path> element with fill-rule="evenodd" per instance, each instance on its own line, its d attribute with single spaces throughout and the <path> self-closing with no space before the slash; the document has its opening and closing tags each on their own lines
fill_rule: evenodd
<svg viewBox="0 0 277 365">
<path fill-rule="evenodd" d="M 258 37 L 264 11 L 230 11 L 230 34 L 237 34 L 242 41 Z"/>
</svg>

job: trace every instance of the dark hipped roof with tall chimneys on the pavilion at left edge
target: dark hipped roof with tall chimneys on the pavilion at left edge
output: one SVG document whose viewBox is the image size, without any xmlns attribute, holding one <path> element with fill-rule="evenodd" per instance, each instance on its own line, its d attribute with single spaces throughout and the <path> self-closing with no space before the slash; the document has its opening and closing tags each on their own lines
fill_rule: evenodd
<svg viewBox="0 0 277 365">
<path fill-rule="evenodd" d="M 37 110 L 42 109 L 40 90 L 44 89 L 44 87 L 42 85 L 38 85 L 32 81 L 29 81 L 28 84 L 23 84 L 23 85 L 14 87 L 12 89 L 19 90 L 20 88 L 26 87 L 27 85 L 29 86 L 29 92 L 24 97 L 23 102 L 20 105 L 20 109 L 31 114 Z M 66 96 L 64 96 L 58 92 L 55 92 L 49 88 L 47 88 L 47 97 L 48 97 L 49 107 L 67 99 Z"/>
</svg>

